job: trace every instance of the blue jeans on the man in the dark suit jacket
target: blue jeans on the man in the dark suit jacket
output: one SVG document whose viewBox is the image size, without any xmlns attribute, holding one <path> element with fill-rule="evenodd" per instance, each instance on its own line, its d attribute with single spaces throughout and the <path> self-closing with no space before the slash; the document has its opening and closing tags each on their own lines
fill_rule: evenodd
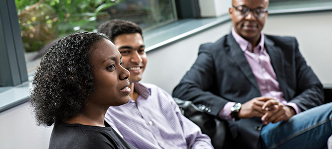
<svg viewBox="0 0 332 149">
<path fill-rule="evenodd" d="M 264 126 L 262 143 L 267 149 L 322 149 L 332 134 L 331 119 L 332 103 L 306 110 L 286 122 Z"/>
</svg>

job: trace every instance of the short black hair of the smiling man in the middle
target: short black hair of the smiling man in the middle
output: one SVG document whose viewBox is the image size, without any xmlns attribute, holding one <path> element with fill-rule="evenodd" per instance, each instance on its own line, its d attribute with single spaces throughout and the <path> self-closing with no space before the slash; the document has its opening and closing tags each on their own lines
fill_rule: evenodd
<svg viewBox="0 0 332 149">
<path fill-rule="evenodd" d="M 116 36 L 121 34 L 139 33 L 141 36 L 143 35 L 142 29 L 137 24 L 121 19 L 114 19 L 103 23 L 98 27 L 98 32 L 109 36 L 112 42 L 114 42 Z"/>
</svg>

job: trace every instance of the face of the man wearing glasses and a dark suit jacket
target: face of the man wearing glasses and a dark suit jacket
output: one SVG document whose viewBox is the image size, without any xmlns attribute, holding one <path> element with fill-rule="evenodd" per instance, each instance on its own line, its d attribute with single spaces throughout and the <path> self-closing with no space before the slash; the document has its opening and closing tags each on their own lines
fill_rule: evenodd
<svg viewBox="0 0 332 149">
<path fill-rule="evenodd" d="M 268 8 L 269 0 L 232 0 L 235 7 L 245 6 L 249 9 Z M 233 21 L 234 30 L 246 40 L 258 40 L 268 14 L 263 18 L 256 18 L 253 11 L 247 16 L 240 15 L 236 8 L 229 8 L 229 15 Z"/>
</svg>

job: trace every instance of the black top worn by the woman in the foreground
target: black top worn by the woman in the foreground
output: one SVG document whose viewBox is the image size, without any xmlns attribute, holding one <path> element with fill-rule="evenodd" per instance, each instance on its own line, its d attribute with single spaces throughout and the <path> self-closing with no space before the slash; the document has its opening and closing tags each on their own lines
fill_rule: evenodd
<svg viewBox="0 0 332 149">
<path fill-rule="evenodd" d="M 105 126 L 57 122 L 49 149 L 136 149 L 123 140 L 107 122 Z"/>
</svg>

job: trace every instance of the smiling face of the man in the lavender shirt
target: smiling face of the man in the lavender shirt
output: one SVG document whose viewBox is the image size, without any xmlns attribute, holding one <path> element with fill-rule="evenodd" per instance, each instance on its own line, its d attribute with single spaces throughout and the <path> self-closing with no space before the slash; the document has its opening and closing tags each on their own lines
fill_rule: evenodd
<svg viewBox="0 0 332 149">
<path fill-rule="evenodd" d="M 122 55 L 123 67 L 130 72 L 130 83 L 140 81 L 148 61 L 141 34 L 118 35 L 114 39 L 114 45 Z"/>
</svg>

